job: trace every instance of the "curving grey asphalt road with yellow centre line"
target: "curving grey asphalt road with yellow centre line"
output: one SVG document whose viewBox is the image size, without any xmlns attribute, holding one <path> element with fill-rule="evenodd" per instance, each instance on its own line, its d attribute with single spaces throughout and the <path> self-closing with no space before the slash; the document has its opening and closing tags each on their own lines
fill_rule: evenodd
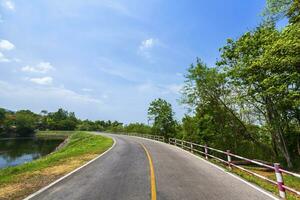
<svg viewBox="0 0 300 200">
<path fill-rule="evenodd" d="M 177 147 L 137 137 L 108 136 L 115 138 L 114 148 L 32 199 L 274 199 Z M 153 176 L 150 173 L 151 166 L 154 169 Z M 153 194 L 155 191 L 156 197 Z"/>
</svg>

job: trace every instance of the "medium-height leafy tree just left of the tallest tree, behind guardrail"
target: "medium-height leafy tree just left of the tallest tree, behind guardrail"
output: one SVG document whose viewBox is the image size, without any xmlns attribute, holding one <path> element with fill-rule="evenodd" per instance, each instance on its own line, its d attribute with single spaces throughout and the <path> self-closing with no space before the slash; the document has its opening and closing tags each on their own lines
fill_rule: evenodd
<svg viewBox="0 0 300 200">
<path fill-rule="evenodd" d="M 208 67 L 197 59 L 196 64 L 188 69 L 183 88 L 181 102 L 188 105 L 194 114 L 183 119 L 185 136 L 217 148 L 230 148 L 236 153 L 243 152 L 242 147 L 254 144 L 269 152 L 265 141 L 252 131 L 252 118 L 246 117 L 250 110 L 240 104 L 237 93 L 223 71 Z"/>
</svg>

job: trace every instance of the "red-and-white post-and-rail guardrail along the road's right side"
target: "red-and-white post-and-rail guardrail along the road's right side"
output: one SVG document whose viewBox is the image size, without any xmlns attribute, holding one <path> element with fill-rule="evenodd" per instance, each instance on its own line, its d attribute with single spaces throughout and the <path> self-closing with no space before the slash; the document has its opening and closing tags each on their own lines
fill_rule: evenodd
<svg viewBox="0 0 300 200">
<path fill-rule="evenodd" d="M 245 172 L 247 172 L 247 173 L 249 173 L 253 176 L 256 176 L 258 178 L 261 178 L 261 179 L 263 179 L 263 180 L 265 180 L 265 181 L 267 181 L 267 182 L 269 182 L 273 185 L 277 185 L 278 191 L 279 191 L 279 196 L 283 199 L 286 198 L 286 192 L 285 192 L 286 190 L 300 196 L 299 191 L 284 185 L 283 176 L 282 176 L 282 174 L 288 174 L 288 175 L 300 178 L 300 174 L 293 173 L 293 172 L 281 169 L 279 163 L 274 163 L 274 166 L 271 166 L 271 165 L 268 165 L 268 164 L 265 164 L 265 163 L 262 163 L 262 162 L 259 162 L 259 161 L 256 161 L 256 160 L 251 160 L 251 159 L 233 154 L 233 153 L 230 152 L 230 150 L 222 151 L 222 150 L 219 150 L 219 149 L 208 147 L 207 145 L 200 145 L 200 144 L 196 144 L 196 143 L 193 143 L 193 142 L 188 142 L 188 141 L 184 141 L 184 140 L 180 140 L 180 139 L 176 139 L 176 138 L 169 138 L 168 142 L 169 142 L 169 144 L 181 147 L 182 149 L 187 149 L 187 150 L 191 151 L 191 153 L 196 152 L 198 154 L 201 154 L 205 157 L 205 159 L 208 159 L 209 157 L 213 158 L 213 159 L 216 159 L 216 160 L 224 163 L 225 165 L 227 165 L 229 169 L 231 169 L 232 167 L 236 167 L 237 169 L 245 171 Z M 224 160 L 224 159 L 219 158 L 215 155 L 212 155 L 212 154 L 209 153 L 210 151 L 220 153 L 224 157 L 226 157 L 227 159 Z M 237 158 L 237 159 L 240 159 L 240 160 L 244 160 L 244 161 L 259 165 L 261 167 L 265 167 L 265 168 L 273 170 L 274 173 L 275 173 L 275 176 L 276 176 L 276 181 L 271 180 L 271 179 L 269 179 L 265 176 L 262 176 L 258 173 L 250 171 L 249 169 L 246 169 L 244 167 L 241 167 L 241 166 L 235 164 L 234 162 L 232 162 L 232 158 Z"/>
</svg>

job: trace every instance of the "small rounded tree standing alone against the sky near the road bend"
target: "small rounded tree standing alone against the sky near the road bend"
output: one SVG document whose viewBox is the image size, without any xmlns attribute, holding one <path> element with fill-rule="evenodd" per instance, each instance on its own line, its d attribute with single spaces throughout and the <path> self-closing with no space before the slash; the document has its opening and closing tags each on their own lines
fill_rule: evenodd
<svg viewBox="0 0 300 200">
<path fill-rule="evenodd" d="M 174 112 L 166 100 L 155 99 L 148 108 L 148 119 L 153 123 L 153 132 L 166 138 L 175 135 Z"/>
</svg>

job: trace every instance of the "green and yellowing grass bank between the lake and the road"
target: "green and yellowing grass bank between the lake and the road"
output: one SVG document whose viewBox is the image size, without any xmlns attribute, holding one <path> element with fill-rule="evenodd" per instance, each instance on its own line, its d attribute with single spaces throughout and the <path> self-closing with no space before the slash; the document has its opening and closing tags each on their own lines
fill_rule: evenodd
<svg viewBox="0 0 300 200">
<path fill-rule="evenodd" d="M 15 167 L 0 170 L 0 199 L 23 199 L 95 158 L 113 140 L 88 132 L 39 132 L 41 136 L 69 137 L 68 143 L 45 157 Z"/>
</svg>

